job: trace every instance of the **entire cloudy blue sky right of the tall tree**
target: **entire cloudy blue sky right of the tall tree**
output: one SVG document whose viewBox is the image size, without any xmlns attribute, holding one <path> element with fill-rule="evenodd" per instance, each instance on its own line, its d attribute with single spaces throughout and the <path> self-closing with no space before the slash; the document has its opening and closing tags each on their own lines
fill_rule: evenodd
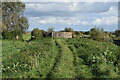
<svg viewBox="0 0 120 80">
<path fill-rule="evenodd" d="M 56 31 L 65 27 L 88 31 L 94 26 L 106 31 L 118 29 L 117 2 L 26 2 L 24 15 L 30 31 L 49 27 Z"/>
</svg>

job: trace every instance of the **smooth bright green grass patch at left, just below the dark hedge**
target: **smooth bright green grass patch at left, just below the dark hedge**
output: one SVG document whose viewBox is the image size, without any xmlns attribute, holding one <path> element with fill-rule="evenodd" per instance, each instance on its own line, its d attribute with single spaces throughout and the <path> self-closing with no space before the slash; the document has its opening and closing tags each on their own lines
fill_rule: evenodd
<svg viewBox="0 0 120 80">
<path fill-rule="evenodd" d="M 25 48 L 25 44 L 26 42 L 22 41 L 2 41 L 2 56 L 7 57 L 12 54 L 20 53 Z"/>
</svg>

